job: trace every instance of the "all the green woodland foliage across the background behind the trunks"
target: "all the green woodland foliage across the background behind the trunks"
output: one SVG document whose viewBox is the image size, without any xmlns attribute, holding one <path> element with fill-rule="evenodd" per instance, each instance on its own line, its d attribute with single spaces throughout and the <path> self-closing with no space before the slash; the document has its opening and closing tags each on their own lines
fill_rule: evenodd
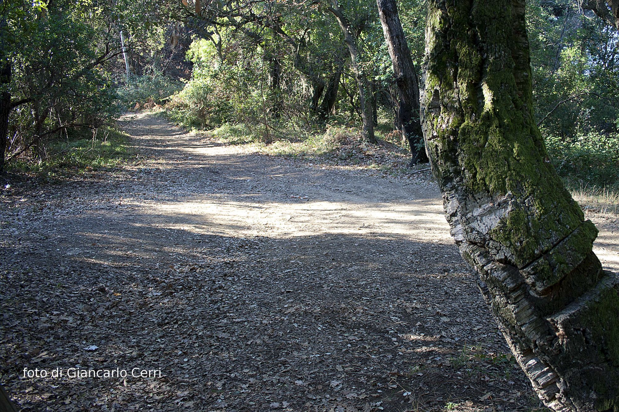
<svg viewBox="0 0 619 412">
<path fill-rule="evenodd" d="M 378 112 L 392 116 L 395 83 L 376 5 L 359 0 L 339 4 L 355 33 L 360 66 L 372 83 Z M 327 147 L 324 136 L 337 129 L 334 119 L 345 118 L 347 127 L 360 121 L 357 84 L 342 32 L 326 3 L 284 0 L 262 6 L 254 7 L 259 18 L 253 19 L 231 4 L 208 6 L 198 18 L 188 17 L 180 2 L 3 2 L 0 52 L 13 65 L 12 98 L 33 99 L 11 114 L 9 155 L 45 157 L 62 124 L 100 126 L 116 115 L 118 102 L 133 109 L 151 98 L 167 102 L 166 114 L 176 122 L 227 129 L 221 134 L 235 142 L 297 144 L 311 136 L 315 141 L 309 146 Z M 426 2 L 400 0 L 398 6 L 420 69 Z M 227 12 L 235 15 L 235 24 L 225 17 Z M 583 17 L 569 2 L 527 2 L 534 104 L 561 176 L 609 186 L 617 184 L 611 148 L 619 126 L 617 30 L 586 13 Z M 183 26 L 186 35 L 183 48 L 175 51 L 166 44 L 170 22 L 175 33 Z M 129 82 L 119 54 L 119 30 L 129 46 L 132 72 L 141 74 Z M 106 48 L 110 59 L 96 63 Z M 164 56 L 185 51 L 186 66 L 170 71 Z M 272 84 L 275 61 L 281 70 L 277 85 Z M 191 64 L 191 78 L 183 84 L 178 78 L 187 77 Z M 336 71 L 342 72 L 339 92 L 325 124 L 324 119 L 316 121 L 311 99 Z M 391 130 L 379 132 L 394 137 Z"/>
</svg>

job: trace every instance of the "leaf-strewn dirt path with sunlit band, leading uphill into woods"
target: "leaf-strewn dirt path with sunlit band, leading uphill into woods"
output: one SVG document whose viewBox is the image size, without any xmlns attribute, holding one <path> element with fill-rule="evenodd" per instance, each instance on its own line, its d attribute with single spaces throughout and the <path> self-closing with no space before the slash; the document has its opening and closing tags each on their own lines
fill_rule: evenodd
<svg viewBox="0 0 619 412">
<path fill-rule="evenodd" d="M 538 404 L 428 176 L 266 157 L 147 115 L 121 124 L 137 168 L 2 196 L 0 381 L 24 411 Z M 617 220 L 599 220 L 612 265 Z M 35 367 L 64 375 L 24 377 Z"/>
</svg>

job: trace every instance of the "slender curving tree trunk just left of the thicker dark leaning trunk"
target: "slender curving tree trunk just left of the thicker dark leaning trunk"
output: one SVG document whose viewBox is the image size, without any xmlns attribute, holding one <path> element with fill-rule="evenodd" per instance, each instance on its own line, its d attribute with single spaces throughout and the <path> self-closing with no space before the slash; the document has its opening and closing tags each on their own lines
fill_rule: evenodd
<svg viewBox="0 0 619 412">
<path fill-rule="evenodd" d="M 344 43 L 348 47 L 350 53 L 350 65 L 352 71 L 355 74 L 355 80 L 357 80 L 357 87 L 359 89 L 359 105 L 361 106 L 361 122 L 363 122 L 363 131 L 361 132 L 361 138 L 369 143 L 376 143 L 376 137 L 374 136 L 374 123 L 372 121 L 372 105 L 368 101 L 370 96 L 370 84 L 368 83 L 368 77 L 365 75 L 361 66 L 359 66 L 359 53 L 357 49 L 357 40 L 351 32 L 350 22 L 345 17 L 339 6 L 337 0 L 331 0 L 331 7 L 329 7 L 331 14 L 335 16 L 335 20 L 340 25 L 342 33 L 344 34 Z"/>
</svg>

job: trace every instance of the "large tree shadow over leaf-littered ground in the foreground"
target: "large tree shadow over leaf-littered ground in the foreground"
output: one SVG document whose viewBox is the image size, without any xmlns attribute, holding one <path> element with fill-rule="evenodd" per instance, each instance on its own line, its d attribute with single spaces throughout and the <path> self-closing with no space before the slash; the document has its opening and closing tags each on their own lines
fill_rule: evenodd
<svg viewBox="0 0 619 412">
<path fill-rule="evenodd" d="M 501 360 L 507 350 L 454 247 L 93 229 L 74 245 L 89 251 L 54 243 L 65 253 L 12 262 L 2 278 L 4 376 L 25 411 L 528 407 L 527 382 Z M 20 377 L 76 366 L 162 377 Z"/>
</svg>

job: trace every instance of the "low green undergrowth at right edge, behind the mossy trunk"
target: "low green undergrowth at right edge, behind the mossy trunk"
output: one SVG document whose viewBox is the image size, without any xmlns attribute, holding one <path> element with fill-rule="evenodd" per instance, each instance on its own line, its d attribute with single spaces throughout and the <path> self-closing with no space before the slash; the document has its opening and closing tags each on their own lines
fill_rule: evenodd
<svg viewBox="0 0 619 412">
<path fill-rule="evenodd" d="M 546 145 L 561 177 L 597 187 L 619 184 L 619 134 L 591 132 L 573 138 L 550 135 Z"/>
</svg>

